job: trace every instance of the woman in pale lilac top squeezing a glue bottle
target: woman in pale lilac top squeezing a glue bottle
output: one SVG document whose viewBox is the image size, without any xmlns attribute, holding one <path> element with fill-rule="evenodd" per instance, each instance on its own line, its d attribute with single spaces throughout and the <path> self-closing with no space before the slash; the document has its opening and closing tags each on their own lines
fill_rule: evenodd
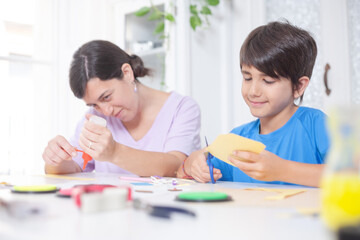
<svg viewBox="0 0 360 240">
<path fill-rule="evenodd" d="M 137 78 L 148 74 L 138 56 L 110 42 L 80 47 L 70 86 L 90 109 L 70 142 L 57 136 L 48 143 L 45 172 L 81 172 L 81 149 L 95 159 L 84 171 L 175 176 L 187 155 L 200 148 L 200 110 L 189 97 L 141 84 Z M 107 126 L 88 121 L 92 115 L 105 118 Z"/>
</svg>

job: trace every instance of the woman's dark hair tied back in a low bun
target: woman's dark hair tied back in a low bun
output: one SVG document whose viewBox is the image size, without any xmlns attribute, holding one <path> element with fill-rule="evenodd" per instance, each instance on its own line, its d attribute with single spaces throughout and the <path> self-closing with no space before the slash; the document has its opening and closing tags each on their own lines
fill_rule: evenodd
<svg viewBox="0 0 360 240">
<path fill-rule="evenodd" d="M 71 90 L 77 98 L 83 98 L 86 84 L 92 78 L 121 80 L 124 63 L 130 64 L 137 82 L 137 77 L 150 74 L 150 69 L 144 67 L 140 57 L 130 56 L 111 42 L 95 40 L 85 43 L 73 56 L 69 74 Z"/>
</svg>

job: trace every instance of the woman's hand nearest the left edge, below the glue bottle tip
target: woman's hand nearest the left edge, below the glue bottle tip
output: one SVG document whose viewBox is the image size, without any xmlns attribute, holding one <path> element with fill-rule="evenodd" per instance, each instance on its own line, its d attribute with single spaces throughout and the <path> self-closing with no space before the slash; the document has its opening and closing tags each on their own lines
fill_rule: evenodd
<svg viewBox="0 0 360 240">
<path fill-rule="evenodd" d="M 63 136 L 51 139 L 42 155 L 46 164 L 58 166 L 63 161 L 70 161 L 77 154 L 75 148 Z"/>
</svg>

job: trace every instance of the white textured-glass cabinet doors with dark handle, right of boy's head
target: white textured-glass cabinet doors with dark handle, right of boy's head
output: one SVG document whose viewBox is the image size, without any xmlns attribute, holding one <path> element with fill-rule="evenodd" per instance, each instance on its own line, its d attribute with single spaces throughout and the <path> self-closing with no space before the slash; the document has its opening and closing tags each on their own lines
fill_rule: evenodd
<svg viewBox="0 0 360 240">
<path fill-rule="evenodd" d="M 266 21 L 288 19 L 309 30 L 318 45 L 318 56 L 303 105 L 325 112 L 338 105 L 360 103 L 359 23 L 357 0 L 265 1 Z M 330 64 L 326 94 L 325 66 Z"/>
</svg>

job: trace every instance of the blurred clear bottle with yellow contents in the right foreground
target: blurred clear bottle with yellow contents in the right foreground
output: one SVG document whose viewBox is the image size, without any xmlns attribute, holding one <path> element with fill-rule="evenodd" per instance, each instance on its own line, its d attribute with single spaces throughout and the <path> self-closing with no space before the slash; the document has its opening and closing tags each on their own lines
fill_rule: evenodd
<svg viewBox="0 0 360 240">
<path fill-rule="evenodd" d="M 360 223 L 360 108 L 334 109 L 322 179 L 322 218 L 332 229 Z"/>
</svg>

